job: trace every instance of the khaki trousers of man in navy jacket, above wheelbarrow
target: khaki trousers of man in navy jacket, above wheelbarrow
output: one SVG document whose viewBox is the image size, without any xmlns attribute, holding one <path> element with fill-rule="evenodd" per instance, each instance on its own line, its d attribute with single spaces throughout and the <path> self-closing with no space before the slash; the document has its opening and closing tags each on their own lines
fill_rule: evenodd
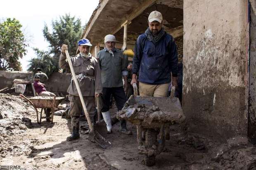
<svg viewBox="0 0 256 170">
<path fill-rule="evenodd" d="M 139 91 L 141 96 L 167 97 L 169 83 L 166 84 L 145 84 L 139 83 Z"/>
</svg>

